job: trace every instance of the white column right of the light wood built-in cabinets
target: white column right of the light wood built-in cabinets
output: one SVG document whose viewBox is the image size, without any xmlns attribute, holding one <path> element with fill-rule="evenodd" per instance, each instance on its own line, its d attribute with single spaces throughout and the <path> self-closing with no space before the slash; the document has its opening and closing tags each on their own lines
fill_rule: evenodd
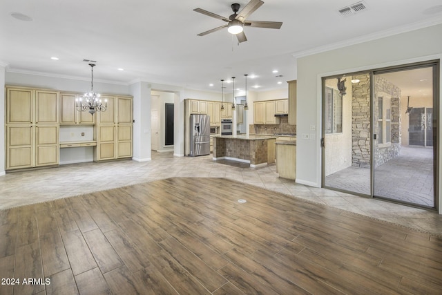
<svg viewBox="0 0 442 295">
<path fill-rule="evenodd" d="M 146 162 L 151 158 L 151 85 L 131 85 L 133 95 L 133 160 Z"/>
</svg>

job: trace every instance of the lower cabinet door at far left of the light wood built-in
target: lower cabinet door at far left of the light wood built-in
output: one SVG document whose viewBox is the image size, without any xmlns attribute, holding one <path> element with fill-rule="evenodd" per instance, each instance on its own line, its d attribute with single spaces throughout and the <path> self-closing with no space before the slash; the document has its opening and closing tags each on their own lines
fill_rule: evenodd
<svg viewBox="0 0 442 295">
<path fill-rule="evenodd" d="M 31 125 L 7 127 L 6 170 L 34 165 L 34 129 Z"/>
</svg>

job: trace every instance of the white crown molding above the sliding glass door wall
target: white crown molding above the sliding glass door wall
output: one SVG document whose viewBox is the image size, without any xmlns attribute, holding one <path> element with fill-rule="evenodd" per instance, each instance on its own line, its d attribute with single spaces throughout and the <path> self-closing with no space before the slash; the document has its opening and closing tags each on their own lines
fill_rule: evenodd
<svg viewBox="0 0 442 295">
<path fill-rule="evenodd" d="M 419 30 L 421 28 L 427 28 L 430 26 L 436 26 L 442 23 L 442 17 L 434 17 L 432 19 L 426 19 L 425 21 L 418 21 L 416 23 L 410 23 L 405 26 L 399 26 L 395 28 L 391 28 L 389 30 L 383 30 L 381 32 L 375 32 L 368 35 L 363 35 L 361 37 L 356 37 L 352 39 L 347 39 L 345 41 L 336 42 L 333 44 L 328 44 L 326 46 L 319 46 L 316 48 L 311 48 L 307 50 L 298 51 L 296 53 L 291 53 L 291 56 L 294 58 L 306 57 L 309 55 L 315 55 L 317 53 L 324 53 L 329 50 L 335 50 L 339 48 L 344 48 L 347 46 L 352 46 L 356 44 L 361 44 L 367 41 L 373 41 L 376 39 L 382 39 L 385 37 L 390 37 L 394 35 L 399 35 L 404 32 L 411 32 L 413 30 Z"/>
</svg>

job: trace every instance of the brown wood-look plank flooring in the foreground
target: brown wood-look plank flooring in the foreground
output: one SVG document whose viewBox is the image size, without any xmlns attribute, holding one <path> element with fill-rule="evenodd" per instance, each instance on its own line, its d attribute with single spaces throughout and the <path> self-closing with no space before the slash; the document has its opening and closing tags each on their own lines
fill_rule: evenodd
<svg viewBox="0 0 442 295">
<path fill-rule="evenodd" d="M 0 211 L 0 278 L 20 295 L 441 294 L 442 237 L 169 178 Z"/>
</svg>

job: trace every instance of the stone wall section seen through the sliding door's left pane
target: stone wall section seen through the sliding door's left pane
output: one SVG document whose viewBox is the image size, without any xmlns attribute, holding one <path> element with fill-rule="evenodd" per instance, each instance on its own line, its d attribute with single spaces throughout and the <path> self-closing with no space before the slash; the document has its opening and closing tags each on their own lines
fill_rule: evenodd
<svg viewBox="0 0 442 295">
<path fill-rule="evenodd" d="M 352 85 L 352 166 L 370 167 L 370 85 L 368 75 L 357 75 Z"/>
</svg>

